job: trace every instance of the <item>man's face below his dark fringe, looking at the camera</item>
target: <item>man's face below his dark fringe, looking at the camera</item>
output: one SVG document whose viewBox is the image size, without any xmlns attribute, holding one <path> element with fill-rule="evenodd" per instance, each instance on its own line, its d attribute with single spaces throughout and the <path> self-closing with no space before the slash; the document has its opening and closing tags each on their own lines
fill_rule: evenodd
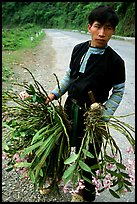
<svg viewBox="0 0 137 204">
<path fill-rule="evenodd" d="M 88 32 L 91 34 L 91 46 L 103 48 L 113 35 L 115 29 L 110 23 L 101 24 L 94 21 L 92 25 L 88 24 Z"/>
</svg>

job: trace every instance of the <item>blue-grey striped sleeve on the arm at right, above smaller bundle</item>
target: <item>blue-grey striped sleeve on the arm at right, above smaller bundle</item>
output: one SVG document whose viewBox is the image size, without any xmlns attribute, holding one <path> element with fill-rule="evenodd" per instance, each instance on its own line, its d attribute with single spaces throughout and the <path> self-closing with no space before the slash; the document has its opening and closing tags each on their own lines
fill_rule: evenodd
<svg viewBox="0 0 137 204">
<path fill-rule="evenodd" d="M 125 83 L 114 85 L 112 88 L 112 94 L 109 99 L 104 104 L 106 109 L 103 111 L 103 119 L 104 121 L 109 121 L 109 116 L 113 115 L 118 108 L 125 89 Z"/>
</svg>

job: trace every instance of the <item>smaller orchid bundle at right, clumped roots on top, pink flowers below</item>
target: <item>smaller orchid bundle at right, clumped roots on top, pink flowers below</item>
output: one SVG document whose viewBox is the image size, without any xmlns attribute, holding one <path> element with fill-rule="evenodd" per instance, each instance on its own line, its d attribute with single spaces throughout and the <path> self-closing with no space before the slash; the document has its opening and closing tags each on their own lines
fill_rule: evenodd
<svg viewBox="0 0 137 204">
<path fill-rule="evenodd" d="M 105 177 L 107 178 L 107 181 L 111 178 L 109 192 L 115 198 L 120 198 L 120 193 L 125 188 L 128 189 L 128 191 L 131 191 L 130 188 L 132 183 L 130 181 L 130 176 L 126 173 L 127 169 L 123 164 L 120 147 L 117 145 L 117 142 L 111 135 L 109 129 L 113 128 L 117 131 L 117 134 L 122 133 L 122 136 L 126 137 L 129 144 L 135 150 L 135 139 L 131 134 L 132 131 L 134 132 L 134 129 L 129 124 L 119 120 L 116 116 L 112 116 L 109 122 L 104 123 L 99 114 L 99 112 L 101 113 L 101 110 L 101 106 L 98 106 L 96 109 L 89 108 L 87 110 L 85 114 L 86 130 L 81 142 L 81 147 L 77 154 L 72 154 L 65 160 L 64 164 L 68 165 L 68 168 L 64 172 L 62 179 L 66 185 L 68 182 L 72 182 L 73 188 L 75 189 L 78 181 L 81 179 L 91 182 L 88 178 L 83 176 L 83 171 L 87 171 L 96 180 L 98 187 L 100 183 L 98 192 L 103 192 L 106 189 L 103 182 Z M 101 140 L 100 136 L 103 139 L 103 145 L 99 157 L 96 152 L 96 146 Z M 88 151 L 90 144 L 93 144 L 92 148 L 95 151 L 94 155 Z M 87 165 L 86 157 L 97 158 L 97 164 L 94 166 Z M 111 168 L 109 168 L 110 166 Z M 95 170 L 98 170 L 99 173 L 97 174 L 97 171 Z"/>
</svg>

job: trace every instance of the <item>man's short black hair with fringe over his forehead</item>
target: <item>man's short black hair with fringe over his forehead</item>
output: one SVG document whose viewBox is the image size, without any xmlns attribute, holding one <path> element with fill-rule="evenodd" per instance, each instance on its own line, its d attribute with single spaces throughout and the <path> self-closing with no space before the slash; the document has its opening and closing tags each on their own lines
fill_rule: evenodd
<svg viewBox="0 0 137 204">
<path fill-rule="evenodd" d="M 101 24 L 109 22 L 115 28 L 119 23 L 119 18 L 111 6 L 98 6 L 88 16 L 88 23 L 90 25 L 94 21 L 98 21 Z"/>
</svg>

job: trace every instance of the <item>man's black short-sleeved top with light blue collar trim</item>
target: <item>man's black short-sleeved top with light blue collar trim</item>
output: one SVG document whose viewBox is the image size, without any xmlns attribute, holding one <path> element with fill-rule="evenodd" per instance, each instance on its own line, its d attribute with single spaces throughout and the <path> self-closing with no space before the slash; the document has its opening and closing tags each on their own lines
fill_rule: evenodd
<svg viewBox="0 0 137 204">
<path fill-rule="evenodd" d="M 105 49 L 103 55 L 91 54 L 85 73 L 80 73 L 81 58 L 89 46 L 89 41 L 76 45 L 70 61 L 71 83 L 68 95 L 80 105 L 89 103 L 90 90 L 96 102 L 104 103 L 112 86 L 125 82 L 124 61 L 110 46 Z"/>
</svg>

